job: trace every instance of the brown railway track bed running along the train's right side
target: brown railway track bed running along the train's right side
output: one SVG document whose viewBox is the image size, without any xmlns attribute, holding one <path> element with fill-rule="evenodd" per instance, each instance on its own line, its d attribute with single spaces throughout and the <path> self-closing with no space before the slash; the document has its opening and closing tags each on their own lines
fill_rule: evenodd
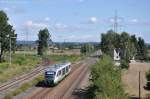
<svg viewBox="0 0 150 99">
<path fill-rule="evenodd" d="M 69 99 L 74 89 L 80 84 L 89 66 L 96 60 L 86 59 L 72 66 L 71 73 L 55 87 L 38 87 L 22 99 Z"/>
</svg>

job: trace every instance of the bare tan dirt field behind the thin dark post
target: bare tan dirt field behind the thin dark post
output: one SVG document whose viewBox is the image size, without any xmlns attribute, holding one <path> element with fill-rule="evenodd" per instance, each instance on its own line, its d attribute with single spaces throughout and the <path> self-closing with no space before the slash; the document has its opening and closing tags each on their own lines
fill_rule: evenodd
<svg viewBox="0 0 150 99">
<path fill-rule="evenodd" d="M 141 72 L 141 96 L 145 97 L 150 91 L 144 89 L 146 84 L 145 72 L 150 69 L 150 63 L 131 63 L 128 71 L 123 73 L 122 81 L 125 91 L 131 97 L 139 96 L 139 71 Z"/>
</svg>

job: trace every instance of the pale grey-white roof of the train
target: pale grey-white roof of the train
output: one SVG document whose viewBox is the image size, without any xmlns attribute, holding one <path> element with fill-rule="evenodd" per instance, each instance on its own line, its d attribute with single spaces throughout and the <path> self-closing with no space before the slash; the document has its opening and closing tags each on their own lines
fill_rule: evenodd
<svg viewBox="0 0 150 99">
<path fill-rule="evenodd" d="M 45 69 L 45 71 L 57 71 L 57 70 L 62 69 L 68 65 L 71 65 L 71 62 L 65 62 L 65 63 L 50 65 L 48 68 Z"/>
</svg>

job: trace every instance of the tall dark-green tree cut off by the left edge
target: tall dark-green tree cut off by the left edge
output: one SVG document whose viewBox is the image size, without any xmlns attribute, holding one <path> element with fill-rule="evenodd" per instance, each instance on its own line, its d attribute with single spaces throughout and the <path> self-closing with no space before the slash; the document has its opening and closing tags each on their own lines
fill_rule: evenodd
<svg viewBox="0 0 150 99">
<path fill-rule="evenodd" d="M 0 62 L 3 61 L 3 54 L 5 51 L 9 50 L 9 41 L 11 39 L 12 49 L 15 49 L 17 34 L 15 34 L 15 30 L 13 26 L 8 23 L 8 17 L 4 11 L 0 11 Z"/>
</svg>

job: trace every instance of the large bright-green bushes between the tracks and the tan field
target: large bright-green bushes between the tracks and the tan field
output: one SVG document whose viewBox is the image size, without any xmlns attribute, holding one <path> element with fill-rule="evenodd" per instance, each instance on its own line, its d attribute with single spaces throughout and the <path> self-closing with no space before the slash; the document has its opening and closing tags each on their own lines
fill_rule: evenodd
<svg viewBox="0 0 150 99">
<path fill-rule="evenodd" d="M 91 67 L 89 99 L 128 99 L 121 84 L 121 70 L 115 68 L 109 56 L 103 56 Z"/>
</svg>

